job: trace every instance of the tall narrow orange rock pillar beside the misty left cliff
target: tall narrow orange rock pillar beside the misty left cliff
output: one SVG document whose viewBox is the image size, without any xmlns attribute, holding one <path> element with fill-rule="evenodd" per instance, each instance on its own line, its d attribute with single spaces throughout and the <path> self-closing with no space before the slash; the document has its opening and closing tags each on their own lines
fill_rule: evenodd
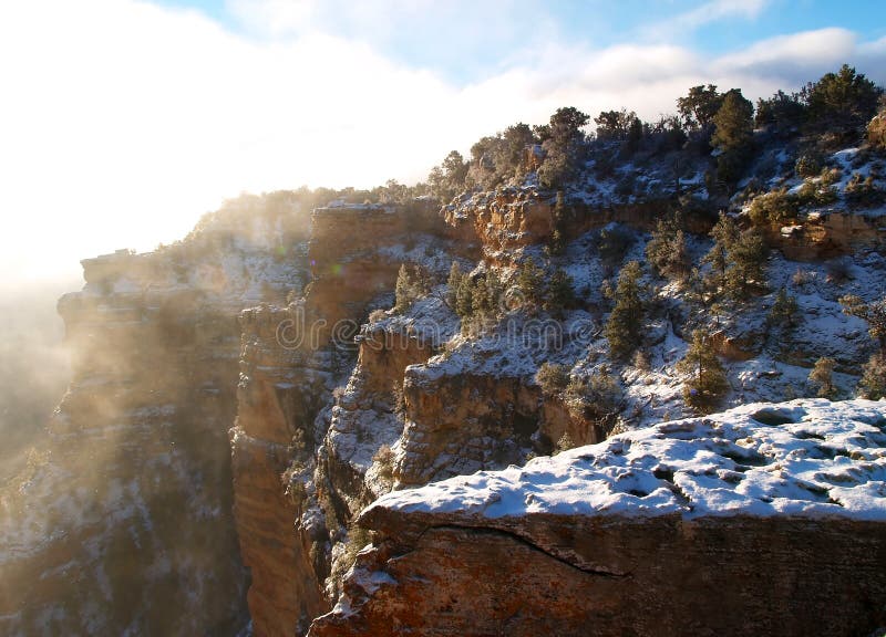
<svg viewBox="0 0 886 637">
<path fill-rule="evenodd" d="M 282 476 L 296 456 L 309 457 L 316 447 L 312 424 L 329 374 L 306 366 L 302 352 L 281 346 L 280 326 L 291 316 L 269 306 L 240 315 L 237 420 L 230 430 L 234 513 L 251 573 L 248 604 L 258 635 L 303 633 L 328 608 L 296 533 L 299 503 L 286 492 Z"/>
</svg>

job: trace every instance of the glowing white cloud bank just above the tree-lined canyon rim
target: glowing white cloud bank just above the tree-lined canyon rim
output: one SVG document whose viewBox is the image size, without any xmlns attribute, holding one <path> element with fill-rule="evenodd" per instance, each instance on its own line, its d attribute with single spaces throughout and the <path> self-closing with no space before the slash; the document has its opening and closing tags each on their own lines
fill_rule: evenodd
<svg viewBox="0 0 886 637">
<path fill-rule="evenodd" d="M 310 3 L 269 7 L 295 7 L 292 31 L 316 20 Z M 501 72 L 456 85 L 312 28 L 261 40 L 136 0 L 0 3 L 0 268 L 27 276 L 53 257 L 75 268 L 150 249 L 241 190 L 414 181 L 450 149 L 559 106 L 653 118 L 702 82 L 754 97 L 854 56 L 883 67 L 886 46 L 851 35 L 800 34 L 720 60 L 533 41 Z"/>
</svg>

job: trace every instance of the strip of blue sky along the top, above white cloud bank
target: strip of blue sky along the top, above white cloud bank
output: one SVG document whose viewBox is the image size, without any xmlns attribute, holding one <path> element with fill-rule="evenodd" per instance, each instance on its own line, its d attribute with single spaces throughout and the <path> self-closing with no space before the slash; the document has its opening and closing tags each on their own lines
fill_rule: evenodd
<svg viewBox="0 0 886 637">
<path fill-rule="evenodd" d="M 172 8 L 194 9 L 225 29 L 265 38 L 244 20 L 245 2 L 236 0 L 156 0 Z M 313 4 L 299 0 L 278 4 Z M 319 3 L 312 17 L 285 31 L 305 30 L 359 40 L 404 64 L 431 69 L 453 82 L 482 81 L 525 60 L 534 42 L 556 39 L 562 44 L 605 49 L 618 44 L 677 43 L 700 54 L 722 55 L 779 35 L 843 28 L 862 41 L 886 36 L 886 2 L 875 0 L 488 0 L 424 4 L 382 1 L 373 10 L 385 22 L 367 28 L 363 13 L 349 14 L 338 2 Z M 324 4 L 324 7 L 323 7 Z M 364 3 L 365 4 L 365 3 Z M 369 3 L 372 4 L 371 2 Z M 717 10 L 721 6 L 722 18 Z M 412 7 L 410 9 L 410 6 Z M 709 10 L 705 17 L 705 9 Z M 680 24 L 681 17 L 694 22 Z M 670 28 L 669 28 L 670 25 Z M 277 33 L 276 36 L 280 36 Z"/>
</svg>

